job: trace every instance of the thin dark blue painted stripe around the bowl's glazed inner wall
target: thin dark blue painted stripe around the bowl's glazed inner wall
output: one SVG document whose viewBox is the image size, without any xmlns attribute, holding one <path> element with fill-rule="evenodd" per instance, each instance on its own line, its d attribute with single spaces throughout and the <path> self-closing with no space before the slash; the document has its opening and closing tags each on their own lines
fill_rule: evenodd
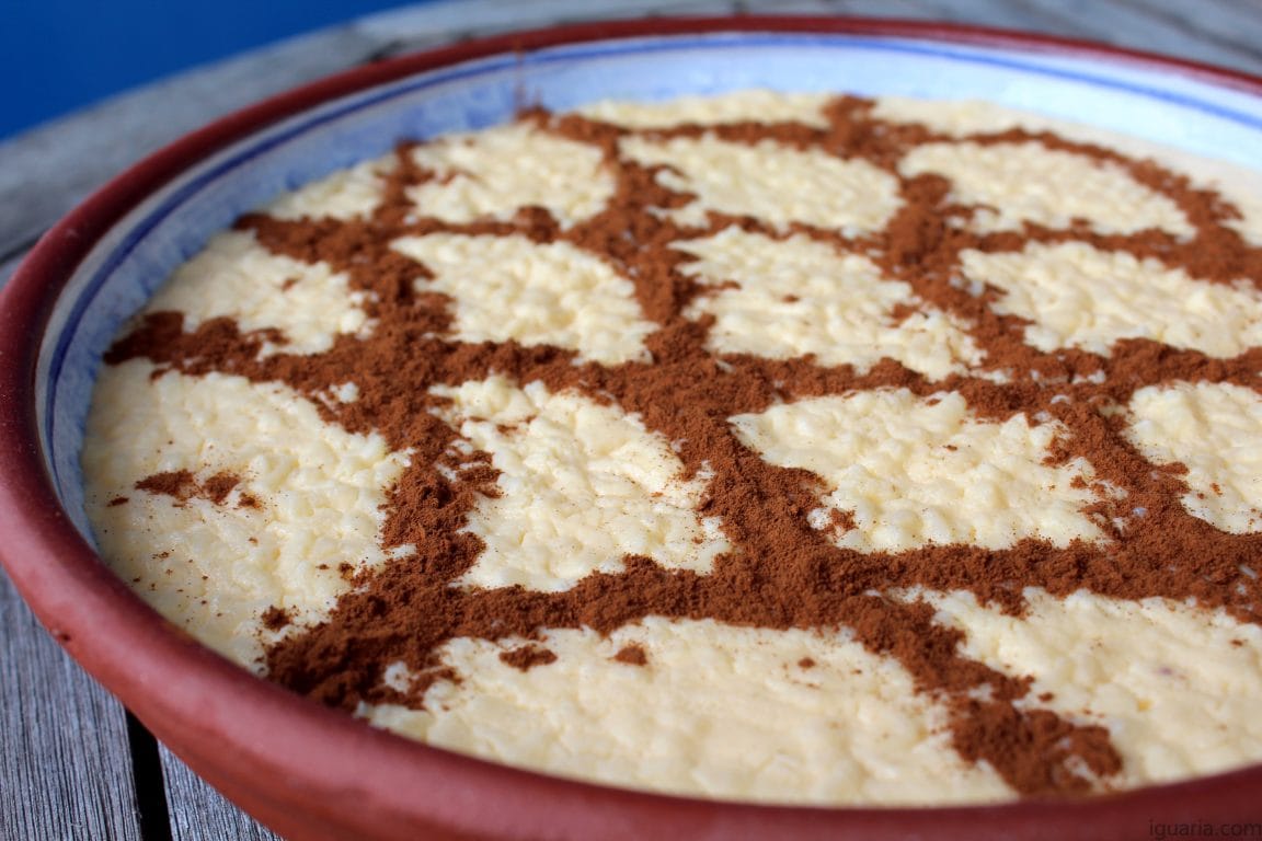
<svg viewBox="0 0 1262 841">
<path fill-rule="evenodd" d="M 1123 82 L 1114 78 L 1107 78 L 1088 72 L 1079 72 L 1064 68 L 1044 67 L 1040 64 L 1030 63 L 1026 61 L 1016 58 L 1005 58 L 1001 55 L 987 55 L 979 54 L 970 50 L 955 49 L 950 47 L 938 47 L 933 44 L 917 44 L 906 43 L 906 40 L 893 40 L 887 38 L 872 38 L 872 37 L 856 37 L 856 35 L 827 35 L 827 34 L 804 34 L 804 33 L 780 33 L 780 34 L 745 34 L 745 33 L 718 33 L 716 35 L 661 35 L 654 37 L 652 40 L 642 40 L 640 38 L 620 39 L 617 42 L 604 42 L 598 45 L 592 44 L 578 44 L 578 45 L 560 45 L 545 48 L 543 50 L 526 53 L 524 55 L 502 55 L 492 58 L 473 59 L 469 63 L 463 63 L 449 71 L 425 71 L 420 78 L 401 83 L 389 83 L 389 86 L 376 95 L 350 95 L 353 101 L 343 105 L 339 108 L 331 108 L 324 111 L 312 119 L 308 119 L 300 124 L 293 125 L 289 129 L 264 139 L 261 142 L 254 144 L 247 149 L 237 153 L 236 155 L 223 160 L 221 164 L 213 166 L 212 169 L 202 173 L 197 178 L 192 179 L 187 184 L 173 192 L 153 213 L 145 217 L 131 232 L 124 238 L 124 241 L 109 255 L 109 257 L 102 262 L 100 269 L 92 276 L 91 281 L 85 286 L 83 294 L 80 296 L 78 301 L 67 316 L 64 328 L 62 329 L 58 343 L 53 348 L 53 354 L 49 362 L 49 382 L 58 383 L 61 380 L 62 368 L 66 362 L 66 356 L 68 345 L 78 330 L 78 324 L 83 318 L 83 314 L 92 305 L 96 295 L 105 286 L 110 275 L 131 255 L 135 247 L 155 228 L 163 222 L 175 208 L 187 202 L 189 198 L 201 192 L 207 184 L 215 182 L 221 175 L 237 166 L 249 163 L 250 160 L 257 158 L 259 155 L 280 146 L 294 137 L 303 135 L 312 129 L 317 129 L 322 125 L 329 124 L 334 120 L 345 117 L 350 113 L 362 111 L 365 108 L 380 105 L 381 102 L 415 93 L 423 91 L 428 87 L 434 87 L 438 84 L 459 81 L 462 78 L 469 78 L 483 73 L 492 73 L 505 69 L 506 67 L 524 67 L 524 66 L 546 66 L 551 63 L 560 62 L 573 62 L 584 58 L 599 58 L 599 57 L 613 57 L 613 55 L 630 55 L 636 53 L 660 53 L 671 50 L 698 50 L 698 49 L 729 49 L 733 45 L 740 47 L 784 47 L 786 44 L 805 44 L 813 47 L 829 47 L 829 48 L 846 48 L 846 49 L 861 49 L 872 52 L 886 52 L 886 53 L 901 53 L 912 55 L 928 55 L 934 58 L 948 58 L 958 61 L 965 64 L 979 64 L 988 67 L 1000 67 L 1008 71 L 1017 71 L 1021 73 L 1027 73 L 1031 76 L 1039 76 L 1045 78 L 1056 78 L 1070 82 L 1082 82 L 1099 88 L 1122 91 L 1126 93 L 1132 93 L 1142 98 L 1155 100 L 1159 102 L 1167 102 L 1171 105 L 1177 105 L 1180 107 L 1189 108 L 1191 111 L 1199 111 L 1201 113 L 1212 115 L 1215 117 L 1224 119 L 1230 122 L 1237 122 L 1251 129 L 1262 130 L 1262 115 L 1249 113 L 1246 111 L 1238 111 L 1234 108 L 1223 107 L 1220 105 L 1206 102 L 1194 96 L 1184 93 L 1174 93 L 1161 88 L 1148 87 L 1145 84 L 1137 84 L 1132 82 Z M 978 49 L 1011 49 L 1011 48 L 988 48 L 986 45 Z M 1054 55 L 1055 57 L 1055 55 Z M 362 98 L 360 98 L 362 97 Z M 44 412 L 44 448 L 45 454 L 49 456 L 49 470 L 53 474 L 54 487 L 58 492 L 62 488 L 62 477 L 58 474 L 56 461 L 50 458 L 49 446 L 56 439 L 53 438 L 53 424 L 56 419 L 56 402 L 57 402 L 58 388 L 56 385 L 49 388 L 45 393 L 45 412 Z"/>
</svg>

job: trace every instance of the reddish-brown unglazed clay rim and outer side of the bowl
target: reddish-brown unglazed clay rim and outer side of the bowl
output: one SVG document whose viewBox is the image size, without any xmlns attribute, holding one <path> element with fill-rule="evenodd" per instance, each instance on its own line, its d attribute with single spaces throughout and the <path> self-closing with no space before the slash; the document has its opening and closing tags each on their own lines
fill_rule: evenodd
<svg viewBox="0 0 1262 841">
<path fill-rule="evenodd" d="M 611 38 L 834 33 L 1017 48 L 1145 66 L 1262 97 L 1262 79 L 1094 43 L 938 23 L 745 16 L 603 21 L 515 33 L 358 67 L 269 98 L 145 158 L 52 228 L 0 293 L 0 561 L 53 637 L 180 753 L 235 768 L 246 789 L 304 802 L 331 826 L 427 825 L 495 837 L 1116 837 L 1153 820 L 1256 817 L 1262 765 L 1080 802 L 818 808 L 713 802 L 581 783 L 466 758 L 375 730 L 257 680 L 167 624 L 61 509 L 35 426 L 38 340 L 53 303 L 111 226 L 187 166 L 329 98 L 497 53 Z M 109 633 L 100 633 L 109 629 Z M 174 676 L 174 677 L 173 677 Z M 178 722 L 178 726 L 170 722 Z M 165 725 L 165 726 L 164 726 Z M 338 803 L 351 796 L 363 817 Z M 358 823 L 356 823 L 358 821 Z M 1142 827 L 1142 828 L 1141 828 Z"/>
</svg>

